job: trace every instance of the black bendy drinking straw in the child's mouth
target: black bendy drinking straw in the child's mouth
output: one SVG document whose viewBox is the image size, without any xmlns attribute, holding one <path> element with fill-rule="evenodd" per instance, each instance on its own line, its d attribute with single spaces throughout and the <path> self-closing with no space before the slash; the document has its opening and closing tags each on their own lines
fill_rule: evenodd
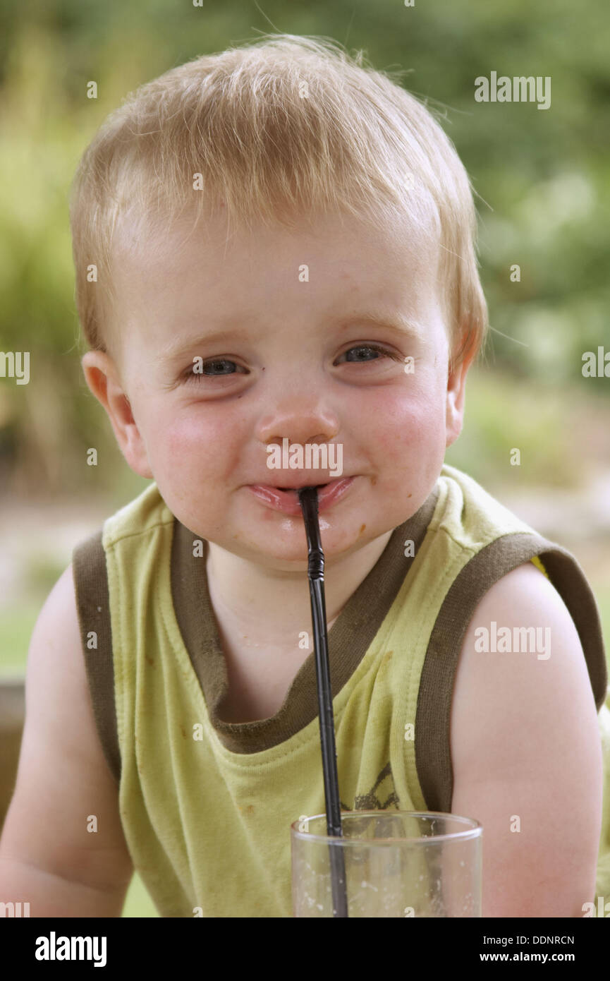
<svg viewBox="0 0 610 981">
<path fill-rule="evenodd" d="M 330 692 L 329 638 L 327 634 L 327 610 L 324 593 L 324 552 L 322 550 L 320 525 L 318 523 L 318 491 L 316 488 L 301 488 L 297 493 L 301 511 L 303 512 L 308 547 L 307 576 L 309 578 L 309 596 L 311 600 L 314 648 L 316 652 L 316 685 L 318 688 L 327 834 L 335 838 L 342 838 L 341 805 L 336 772 L 336 749 L 334 745 L 332 696 Z M 329 848 L 332 915 L 347 916 L 343 850 L 338 847 L 333 848 L 332 845 Z"/>
</svg>

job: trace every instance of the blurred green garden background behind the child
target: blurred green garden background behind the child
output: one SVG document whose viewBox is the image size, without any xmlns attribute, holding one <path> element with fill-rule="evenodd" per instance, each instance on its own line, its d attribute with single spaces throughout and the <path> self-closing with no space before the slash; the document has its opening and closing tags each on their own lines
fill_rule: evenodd
<svg viewBox="0 0 610 981">
<path fill-rule="evenodd" d="M 610 351 L 609 21 L 605 0 L 0 0 L 0 351 L 30 352 L 29 384 L 0 377 L 0 822 L 36 617 L 76 543 L 148 484 L 81 373 L 70 182 L 130 90 L 261 33 L 364 49 L 443 113 L 479 195 L 491 324 L 446 461 L 572 551 L 608 648 L 610 377 L 585 378 L 583 355 Z M 492 71 L 550 76 L 550 108 L 475 102 Z M 157 915 L 137 876 L 124 915 Z"/>
</svg>

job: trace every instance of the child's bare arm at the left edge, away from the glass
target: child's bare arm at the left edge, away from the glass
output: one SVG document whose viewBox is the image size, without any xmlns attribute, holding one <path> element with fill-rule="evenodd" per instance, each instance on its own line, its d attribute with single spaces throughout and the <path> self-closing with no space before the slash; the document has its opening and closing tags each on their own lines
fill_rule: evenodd
<svg viewBox="0 0 610 981">
<path fill-rule="evenodd" d="M 91 816 L 97 831 L 87 831 Z M 120 916 L 133 867 L 87 685 L 72 565 L 34 627 L 17 783 L 0 840 L 0 903 L 30 916 Z"/>
</svg>

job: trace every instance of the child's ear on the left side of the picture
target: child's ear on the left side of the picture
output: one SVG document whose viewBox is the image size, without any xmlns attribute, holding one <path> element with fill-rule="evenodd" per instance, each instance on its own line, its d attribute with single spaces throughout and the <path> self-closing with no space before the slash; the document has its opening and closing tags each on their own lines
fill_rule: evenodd
<svg viewBox="0 0 610 981">
<path fill-rule="evenodd" d="M 87 386 L 106 409 L 121 452 L 131 470 L 140 477 L 153 480 L 146 446 L 133 418 L 115 362 L 104 351 L 87 351 L 80 364 Z"/>
</svg>

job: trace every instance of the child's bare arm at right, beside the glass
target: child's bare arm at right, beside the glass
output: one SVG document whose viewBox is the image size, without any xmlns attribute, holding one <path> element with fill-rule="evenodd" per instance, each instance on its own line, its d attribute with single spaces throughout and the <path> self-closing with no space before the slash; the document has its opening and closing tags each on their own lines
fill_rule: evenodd
<svg viewBox="0 0 610 981">
<path fill-rule="evenodd" d="M 549 627 L 550 656 L 478 652 L 493 620 Z M 451 711 L 451 811 L 483 824 L 483 916 L 583 916 L 601 830 L 597 713 L 572 617 L 532 563 L 476 608 Z"/>
</svg>

